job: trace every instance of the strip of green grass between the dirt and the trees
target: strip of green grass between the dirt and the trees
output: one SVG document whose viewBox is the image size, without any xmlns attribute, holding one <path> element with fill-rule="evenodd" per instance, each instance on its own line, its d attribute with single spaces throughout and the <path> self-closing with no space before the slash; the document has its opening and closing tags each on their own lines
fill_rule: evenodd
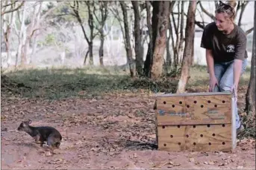
<svg viewBox="0 0 256 170">
<path fill-rule="evenodd" d="M 10 79 L 31 87 L 30 91 L 22 91 L 22 97 L 41 97 L 46 99 L 62 99 L 66 97 L 94 97 L 114 91 L 137 91 L 144 89 L 153 93 L 175 93 L 178 79 L 163 78 L 157 81 L 151 79 L 131 79 L 128 71 L 116 67 L 87 68 L 46 68 L 7 71 L 4 73 Z M 249 82 L 249 70 L 244 73 L 240 84 Z M 190 79 L 187 88 L 205 91 L 208 84 L 206 66 L 195 65 L 190 68 Z"/>
</svg>

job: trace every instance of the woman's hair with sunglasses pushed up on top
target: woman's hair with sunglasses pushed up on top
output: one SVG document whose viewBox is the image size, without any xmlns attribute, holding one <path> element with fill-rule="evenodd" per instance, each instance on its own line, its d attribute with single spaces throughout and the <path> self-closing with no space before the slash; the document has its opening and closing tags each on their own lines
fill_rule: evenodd
<svg viewBox="0 0 256 170">
<path fill-rule="evenodd" d="M 234 21 L 236 16 L 234 7 L 237 6 L 237 1 L 227 1 L 227 3 L 219 2 L 219 6 L 216 8 L 215 13 L 225 13 L 229 19 Z"/>
</svg>

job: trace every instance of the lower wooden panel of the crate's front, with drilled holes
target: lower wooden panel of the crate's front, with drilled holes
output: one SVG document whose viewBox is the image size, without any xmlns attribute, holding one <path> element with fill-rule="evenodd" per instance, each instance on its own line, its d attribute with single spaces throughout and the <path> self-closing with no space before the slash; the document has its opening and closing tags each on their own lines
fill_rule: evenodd
<svg viewBox="0 0 256 170">
<path fill-rule="evenodd" d="M 179 128 L 177 125 L 165 125 L 164 128 L 158 125 L 157 138 L 158 149 L 163 151 L 231 151 L 232 149 L 231 124 L 225 124 L 225 127 L 196 125 L 195 128 L 193 125 L 180 125 Z"/>
</svg>

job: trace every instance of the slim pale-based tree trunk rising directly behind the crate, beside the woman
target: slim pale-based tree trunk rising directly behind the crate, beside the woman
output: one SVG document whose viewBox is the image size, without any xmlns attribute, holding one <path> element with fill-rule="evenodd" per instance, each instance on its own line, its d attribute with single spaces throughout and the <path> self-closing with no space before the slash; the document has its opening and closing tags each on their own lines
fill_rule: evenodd
<svg viewBox="0 0 256 170">
<path fill-rule="evenodd" d="M 178 82 L 176 93 L 184 93 L 190 75 L 190 58 L 193 53 L 191 46 L 193 45 L 193 37 L 195 34 L 195 13 L 196 1 L 190 1 L 187 11 L 187 25 L 185 30 L 185 49 L 181 66 L 181 78 Z"/>
</svg>

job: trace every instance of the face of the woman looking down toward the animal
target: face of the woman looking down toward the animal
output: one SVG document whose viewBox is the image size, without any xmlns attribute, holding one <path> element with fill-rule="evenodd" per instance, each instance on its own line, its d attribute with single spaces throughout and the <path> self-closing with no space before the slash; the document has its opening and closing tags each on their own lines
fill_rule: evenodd
<svg viewBox="0 0 256 170">
<path fill-rule="evenodd" d="M 215 15 L 215 23 L 218 27 L 218 30 L 228 30 L 229 27 L 233 24 L 231 19 L 229 19 L 227 16 L 225 16 L 225 13 L 216 13 Z"/>
</svg>

